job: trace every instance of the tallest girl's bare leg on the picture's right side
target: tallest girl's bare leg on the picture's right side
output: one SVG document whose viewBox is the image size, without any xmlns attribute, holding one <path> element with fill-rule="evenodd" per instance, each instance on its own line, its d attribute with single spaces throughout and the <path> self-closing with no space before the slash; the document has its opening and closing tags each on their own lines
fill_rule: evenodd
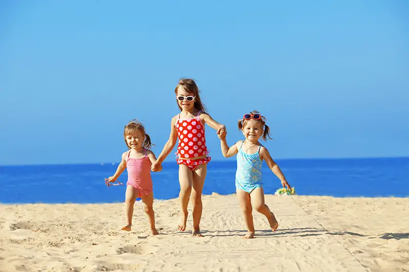
<svg viewBox="0 0 409 272">
<path fill-rule="evenodd" d="M 193 237 L 203 236 L 200 233 L 200 219 L 203 205 L 201 202 L 201 192 L 203 190 L 203 185 L 205 184 L 207 173 L 207 163 L 197 166 L 193 171 L 193 183 L 192 183 L 192 194 L 190 200 L 193 206 Z"/>
</svg>

